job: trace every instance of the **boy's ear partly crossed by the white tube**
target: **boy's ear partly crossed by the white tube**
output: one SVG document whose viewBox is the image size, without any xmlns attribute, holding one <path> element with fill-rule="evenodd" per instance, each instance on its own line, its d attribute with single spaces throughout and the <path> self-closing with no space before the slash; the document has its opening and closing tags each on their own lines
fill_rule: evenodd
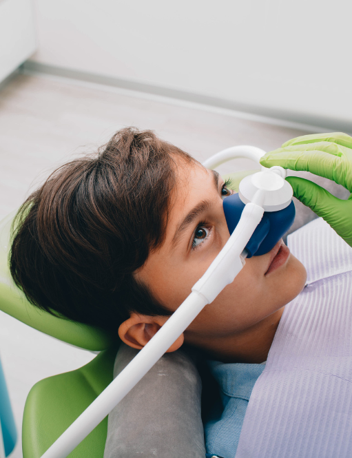
<svg viewBox="0 0 352 458">
<path fill-rule="evenodd" d="M 118 328 L 118 335 L 125 344 L 141 350 L 150 339 L 161 329 L 169 317 L 138 315 L 132 313 L 130 318 L 124 321 Z M 167 353 L 176 351 L 183 344 L 183 334 L 170 346 Z"/>
</svg>

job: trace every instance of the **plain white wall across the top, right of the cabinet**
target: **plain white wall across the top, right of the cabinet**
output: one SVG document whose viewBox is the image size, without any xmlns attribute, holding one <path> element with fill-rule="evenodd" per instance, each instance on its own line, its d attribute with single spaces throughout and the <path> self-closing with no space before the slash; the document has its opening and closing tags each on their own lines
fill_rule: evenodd
<svg viewBox="0 0 352 458">
<path fill-rule="evenodd" d="M 35 0 L 35 6 L 37 63 L 352 126 L 349 1 Z"/>
</svg>

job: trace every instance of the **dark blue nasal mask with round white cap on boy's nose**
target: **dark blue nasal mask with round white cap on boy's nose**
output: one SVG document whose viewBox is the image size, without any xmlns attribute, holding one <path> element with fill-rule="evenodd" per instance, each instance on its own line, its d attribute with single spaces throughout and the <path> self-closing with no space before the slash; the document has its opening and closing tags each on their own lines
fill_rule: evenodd
<svg viewBox="0 0 352 458">
<path fill-rule="evenodd" d="M 224 199 L 224 213 L 230 234 L 238 225 L 245 204 L 252 200 L 259 187 L 262 189 L 266 186 L 265 179 L 268 176 L 265 174 L 267 172 L 258 172 L 258 174 L 247 176 L 241 181 L 238 194 L 233 194 Z M 277 183 L 273 183 L 276 181 L 276 176 L 274 174 L 270 176 L 269 185 L 273 187 L 273 195 L 271 199 L 269 198 L 267 202 L 264 202 L 263 208 L 266 211 L 245 247 L 248 252 L 247 258 L 268 253 L 293 224 L 296 210 L 291 200 L 291 187 L 287 181 L 280 178 L 278 176 Z"/>
</svg>

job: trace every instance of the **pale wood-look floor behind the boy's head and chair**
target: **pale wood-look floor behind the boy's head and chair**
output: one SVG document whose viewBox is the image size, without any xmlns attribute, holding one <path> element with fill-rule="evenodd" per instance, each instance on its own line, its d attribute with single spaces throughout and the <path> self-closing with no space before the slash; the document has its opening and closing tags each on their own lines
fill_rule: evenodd
<svg viewBox="0 0 352 458">
<path fill-rule="evenodd" d="M 94 151 L 117 129 L 129 125 L 154 129 L 198 160 L 231 145 L 256 145 L 269 151 L 289 138 L 309 133 L 161 98 L 19 75 L 0 92 L 0 216 L 19 207 L 29 189 L 54 167 L 73 155 Z M 255 168 L 246 160 L 232 166 Z M 33 384 L 82 366 L 94 356 L 2 312 L 0 354 L 19 432 L 25 397 Z M 19 440 L 12 457 L 21 456 Z"/>
</svg>

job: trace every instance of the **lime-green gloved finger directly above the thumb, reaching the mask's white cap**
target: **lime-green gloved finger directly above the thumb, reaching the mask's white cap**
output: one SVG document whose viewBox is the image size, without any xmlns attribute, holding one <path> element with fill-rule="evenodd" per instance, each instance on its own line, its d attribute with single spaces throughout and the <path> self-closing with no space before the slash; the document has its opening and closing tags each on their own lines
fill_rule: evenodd
<svg viewBox="0 0 352 458">
<path fill-rule="evenodd" d="M 333 152 L 323 152 L 313 149 L 314 145 L 304 145 L 301 147 L 284 147 L 276 151 L 265 154 L 260 159 L 260 164 L 264 167 L 273 167 L 280 165 L 285 169 L 310 171 L 312 174 L 324 176 L 329 180 L 335 181 L 338 185 L 344 186 L 350 192 L 352 191 L 352 161 L 345 160 L 337 152 L 335 145 Z M 341 153 L 341 152 L 340 152 Z"/>
</svg>

